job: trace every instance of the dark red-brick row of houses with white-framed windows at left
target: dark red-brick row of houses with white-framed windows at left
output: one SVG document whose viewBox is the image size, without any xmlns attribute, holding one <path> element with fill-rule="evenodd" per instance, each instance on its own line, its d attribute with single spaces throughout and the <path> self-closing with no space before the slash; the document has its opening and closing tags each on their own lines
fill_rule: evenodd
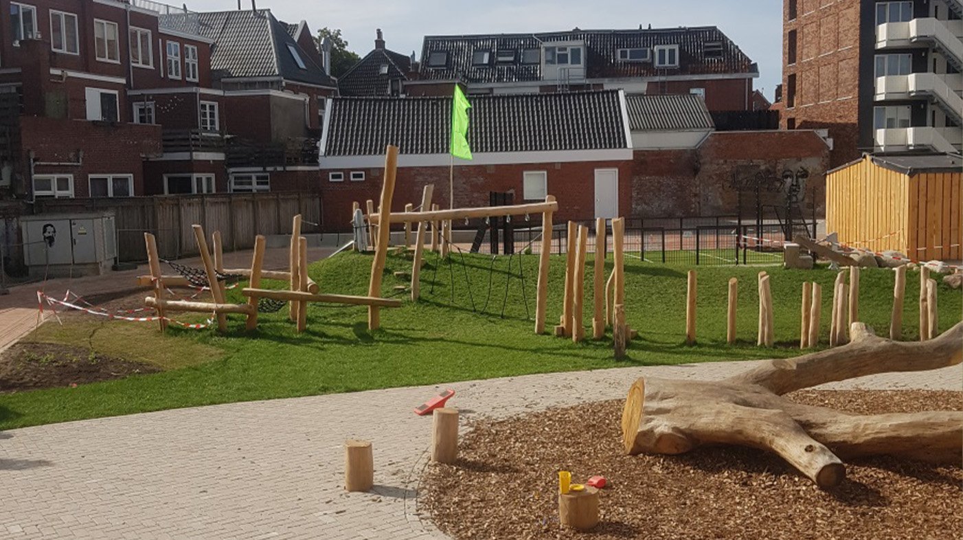
<svg viewBox="0 0 963 540">
<path fill-rule="evenodd" d="M 0 0 L 0 197 L 316 189 L 319 103 L 336 90 L 291 26 L 269 10 Z"/>
</svg>

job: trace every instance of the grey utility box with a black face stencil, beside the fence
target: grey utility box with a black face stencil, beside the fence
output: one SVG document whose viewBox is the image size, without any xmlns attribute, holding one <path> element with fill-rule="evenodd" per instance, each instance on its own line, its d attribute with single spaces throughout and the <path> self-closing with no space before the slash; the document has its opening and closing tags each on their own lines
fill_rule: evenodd
<svg viewBox="0 0 963 540">
<path fill-rule="evenodd" d="M 23 216 L 20 226 L 32 276 L 99 275 L 117 258 L 113 212 Z"/>
</svg>

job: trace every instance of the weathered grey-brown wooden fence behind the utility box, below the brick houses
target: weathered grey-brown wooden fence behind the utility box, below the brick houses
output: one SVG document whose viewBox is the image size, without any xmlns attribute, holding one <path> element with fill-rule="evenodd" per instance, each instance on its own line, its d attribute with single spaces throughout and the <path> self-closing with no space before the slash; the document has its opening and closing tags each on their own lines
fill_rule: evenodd
<svg viewBox="0 0 963 540">
<path fill-rule="evenodd" d="M 37 213 L 113 210 L 120 261 L 147 259 L 143 233 L 157 237 L 158 254 L 176 259 L 197 254 L 191 225 L 221 231 L 224 250 L 249 249 L 259 234 L 291 234 L 291 219 L 303 217 L 302 232 L 320 233 L 321 197 L 315 193 L 223 193 L 131 198 L 38 199 Z"/>
</svg>

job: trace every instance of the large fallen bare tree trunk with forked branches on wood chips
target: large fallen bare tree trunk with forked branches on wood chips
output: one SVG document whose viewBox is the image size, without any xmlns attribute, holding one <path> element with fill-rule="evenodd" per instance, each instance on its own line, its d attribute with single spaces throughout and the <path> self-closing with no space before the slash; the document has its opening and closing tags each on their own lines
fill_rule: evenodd
<svg viewBox="0 0 963 540">
<path fill-rule="evenodd" d="M 625 451 L 677 454 L 707 444 L 769 450 L 822 488 L 846 477 L 841 458 L 892 454 L 959 463 L 963 412 L 853 415 L 782 397 L 825 382 L 963 361 L 963 322 L 923 343 L 876 337 L 861 322 L 851 333 L 845 347 L 771 360 L 718 382 L 639 378 L 622 409 Z"/>
</svg>

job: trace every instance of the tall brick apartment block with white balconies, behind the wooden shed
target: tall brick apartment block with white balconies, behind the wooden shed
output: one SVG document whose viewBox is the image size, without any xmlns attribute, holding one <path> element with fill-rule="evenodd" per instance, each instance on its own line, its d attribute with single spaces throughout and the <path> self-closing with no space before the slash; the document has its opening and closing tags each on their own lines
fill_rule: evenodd
<svg viewBox="0 0 963 540">
<path fill-rule="evenodd" d="M 960 0 L 785 0 L 786 129 L 828 129 L 832 166 L 862 152 L 958 153 Z"/>
</svg>

